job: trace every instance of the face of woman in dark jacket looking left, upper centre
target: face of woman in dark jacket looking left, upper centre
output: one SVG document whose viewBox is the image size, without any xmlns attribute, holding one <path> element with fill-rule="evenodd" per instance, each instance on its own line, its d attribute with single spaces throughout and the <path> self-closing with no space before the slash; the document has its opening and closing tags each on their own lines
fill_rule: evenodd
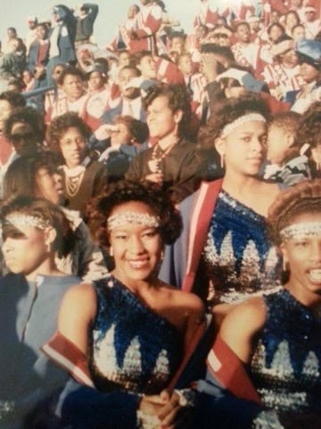
<svg viewBox="0 0 321 429">
<path fill-rule="evenodd" d="M 169 107 L 167 97 L 156 97 L 147 107 L 147 125 L 151 137 L 163 139 L 175 133 L 180 119 L 180 114 Z"/>
</svg>

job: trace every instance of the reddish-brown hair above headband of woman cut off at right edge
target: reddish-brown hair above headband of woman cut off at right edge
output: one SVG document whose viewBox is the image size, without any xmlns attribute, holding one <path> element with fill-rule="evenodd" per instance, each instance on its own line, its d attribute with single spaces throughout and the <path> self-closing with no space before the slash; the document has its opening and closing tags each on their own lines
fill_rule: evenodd
<svg viewBox="0 0 321 429">
<path fill-rule="evenodd" d="M 321 214 L 321 180 L 301 181 L 285 189 L 268 210 L 268 229 L 271 239 L 279 245 L 280 231 L 300 214 Z"/>
</svg>

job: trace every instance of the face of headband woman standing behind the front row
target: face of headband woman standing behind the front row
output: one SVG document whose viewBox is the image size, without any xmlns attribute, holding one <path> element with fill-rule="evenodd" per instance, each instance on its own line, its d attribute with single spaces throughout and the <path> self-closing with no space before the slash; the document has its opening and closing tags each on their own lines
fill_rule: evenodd
<svg viewBox="0 0 321 429">
<path fill-rule="evenodd" d="M 224 156 L 228 169 L 244 176 L 258 174 L 267 152 L 265 122 L 245 122 L 232 130 L 225 139 L 218 139 L 218 153 Z"/>
</svg>

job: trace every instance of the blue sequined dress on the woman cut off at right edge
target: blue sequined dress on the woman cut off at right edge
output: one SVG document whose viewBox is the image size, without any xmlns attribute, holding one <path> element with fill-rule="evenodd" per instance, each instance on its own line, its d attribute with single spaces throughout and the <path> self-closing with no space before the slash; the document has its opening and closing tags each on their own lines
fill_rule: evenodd
<svg viewBox="0 0 321 429">
<path fill-rule="evenodd" d="M 268 408 L 320 413 L 321 316 L 288 290 L 264 300 L 267 321 L 251 359 L 251 380 Z"/>
</svg>

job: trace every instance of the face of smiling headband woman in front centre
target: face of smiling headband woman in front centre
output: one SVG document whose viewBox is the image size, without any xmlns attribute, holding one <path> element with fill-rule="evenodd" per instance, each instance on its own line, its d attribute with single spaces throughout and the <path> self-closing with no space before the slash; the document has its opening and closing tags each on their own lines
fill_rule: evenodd
<svg viewBox="0 0 321 429">
<path fill-rule="evenodd" d="M 150 206 L 131 201 L 116 206 L 113 214 L 153 214 Z M 162 242 L 156 228 L 139 223 L 123 223 L 110 232 L 115 275 L 126 285 L 152 279 L 161 260 Z"/>
</svg>

